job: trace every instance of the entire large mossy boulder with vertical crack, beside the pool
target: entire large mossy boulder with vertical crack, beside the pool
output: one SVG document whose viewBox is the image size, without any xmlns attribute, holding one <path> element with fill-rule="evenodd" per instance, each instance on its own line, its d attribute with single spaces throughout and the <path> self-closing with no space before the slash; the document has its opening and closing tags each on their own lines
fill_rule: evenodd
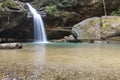
<svg viewBox="0 0 120 80">
<path fill-rule="evenodd" d="M 72 35 L 76 40 L 120 40 L 119 21 L 119 16 L 88 18 L 74 25 Z"/>
</svg>

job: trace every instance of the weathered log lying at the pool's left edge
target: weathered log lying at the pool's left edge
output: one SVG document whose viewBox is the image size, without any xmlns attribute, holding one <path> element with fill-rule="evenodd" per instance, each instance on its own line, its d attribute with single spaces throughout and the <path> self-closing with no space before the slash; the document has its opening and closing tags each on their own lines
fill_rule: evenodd
<svg viewBox="0 0 120 80">
<path fill-rule="evenodd" d="M 20 43 L 1 43 L 0 49 L 21 49 L 22 44 Z"/>
</svg>

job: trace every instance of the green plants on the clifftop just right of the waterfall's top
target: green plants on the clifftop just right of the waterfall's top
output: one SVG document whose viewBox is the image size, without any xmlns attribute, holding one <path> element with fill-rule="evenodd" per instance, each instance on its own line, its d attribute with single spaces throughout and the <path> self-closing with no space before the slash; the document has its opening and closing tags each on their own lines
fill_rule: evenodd
<svg viewBox="0 0 120 80">
<path fill-rule="evenodd" d="M 35 4 L 36 8 L 45 7 L 47 14 L 60 16 L 60 11 L 72 8 L 77 3 L 74 0 L 38 0 Z"/>
</svg>

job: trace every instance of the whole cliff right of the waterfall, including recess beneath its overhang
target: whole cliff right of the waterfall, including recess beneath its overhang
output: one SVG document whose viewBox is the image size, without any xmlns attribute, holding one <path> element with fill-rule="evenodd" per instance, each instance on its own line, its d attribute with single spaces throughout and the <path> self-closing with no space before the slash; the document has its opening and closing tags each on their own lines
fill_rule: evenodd
<svg viewBox="0 0 120 80">
<path fill-rule="evenodd" d="M 86 18 L 104 15 L 102 0 L 44 0 L 44 2 L 40 0 L 39 3 L 36 4 L 37 8 L 44 7 L 44 11 L 47 13 L 44 21 L 46 28 L 50 31 L 48 34 L 50 38 L 61 38 L 69 35 L 70 30 L 68 27 L 72 28 L 73 25 Z M 114 9 L 119 7 L 120 1 L 105 0 L 105 4 L 107 15 L 109 15 Z M 66 33 L 65 35 L 59 32 L 59 27 L 62 32 Z M 54 33 L 57 35 L 53 35 Z"/>
</svg>

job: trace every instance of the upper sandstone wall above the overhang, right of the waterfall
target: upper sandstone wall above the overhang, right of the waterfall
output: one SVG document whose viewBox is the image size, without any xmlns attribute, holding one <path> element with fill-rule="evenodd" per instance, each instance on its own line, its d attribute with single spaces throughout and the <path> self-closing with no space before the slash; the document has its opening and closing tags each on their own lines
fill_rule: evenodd
<svg viewBox="0 0 120 80">
<path fill-rule="evenodd" d="M 45 0 L 47 2 L 47 0 Z M 45 1 L 43 5 L 45 4 Z M 44 5 L 49 9 L 54 9 L 48 13 L 45 23 L 48 26 L 68 27 L 90 17 L 104 16 L 104 6 L 102 0 L 62 0 L 58 4 Z M 120 6 L 119 0 L 105 0 L 107 15 Z M 61 6 L 62 5 L 62 6 Z M 56 6 L 56 7 L 54 7 Z"/>
</svg>

